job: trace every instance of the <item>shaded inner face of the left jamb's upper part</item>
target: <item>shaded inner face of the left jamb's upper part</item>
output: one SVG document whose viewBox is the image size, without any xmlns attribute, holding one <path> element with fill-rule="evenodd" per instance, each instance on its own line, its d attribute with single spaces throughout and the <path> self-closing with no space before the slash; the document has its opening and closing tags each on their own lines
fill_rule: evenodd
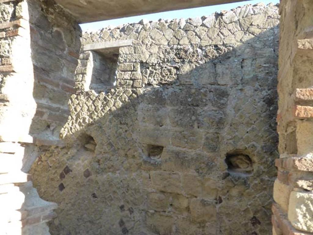
<svg viewBox="0 0 313 235">
<path fill-rule="evenodd" d="M 81 29 L 71 15 L 52 1 L 45 4 L 28 1 L 28 11 L 35 80 L 33 98 L 37 104 L 29 132 L 41 140 L 38 144 L 47 144 L 43 140 L 59 140 L 60 129 L 69 115 L 67 102 L 75 92 Z"/>
</svg>

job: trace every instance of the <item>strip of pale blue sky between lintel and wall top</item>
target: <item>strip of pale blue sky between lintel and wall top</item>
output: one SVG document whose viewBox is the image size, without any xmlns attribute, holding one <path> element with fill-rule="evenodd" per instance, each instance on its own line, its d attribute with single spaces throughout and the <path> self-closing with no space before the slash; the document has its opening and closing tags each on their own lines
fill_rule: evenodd
<svg viewBox="0 0 313 235">
<path fill-rule="evenodd" d="M 193 17 L 201 17 L 211 15 L 214 12 L 220 12 L 221 10 L 230 10 L 239 6 L 243 6 L 246 4 L 256 4 L 263 2 L 264 4 L 268 3 L 279 3 L 279 0 L 252 0 L 252 1 L 243 1 L 238 3 L 228 3 L 228 4 L 221 4 L 215 6 L 208 6 L 208 7 L 200 7 L 200 8 L 191 8 L 185 10 L 177 10 L 177 11 L 168 11 L 168 12 L 160 12 L 154 14 L 147 14 L 147 15 L 140 15 L 140 16 L 133 16 L 133 17 L 126 17 L 126 18 L 119 18 L 114 20 L 105 20 L 105 21 L 98 21 L 93 23 L 85 23 L 81 24 L 80 27 L 83 31 L 96 31 L 101 28 L 105 28 L 107 26 L 118 26 L 126 23 L 138 23 L 141 19 L 147 19 L 151 21 L 157 21 L 158 19 L 180 19 L 180 18 L 193 18 Z"/>
</svg>

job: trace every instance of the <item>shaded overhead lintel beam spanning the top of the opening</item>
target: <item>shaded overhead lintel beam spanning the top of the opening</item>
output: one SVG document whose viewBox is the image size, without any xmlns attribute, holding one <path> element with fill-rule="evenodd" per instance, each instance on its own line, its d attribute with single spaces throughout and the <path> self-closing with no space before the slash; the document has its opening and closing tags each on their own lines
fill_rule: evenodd
<svg viewBox="0 0 313 235">
<path fill-rule="evenodd" d="M 80 23 L 109 20 L 171 10 L 203 7 L 243 0 L 55 0 Z M 248 1 L 248 0 L 245 0 Z M 249 1 L 247 2 L 249 3 Z M 175 18 L 175 15 L 173 15 Z"/>
</svg>

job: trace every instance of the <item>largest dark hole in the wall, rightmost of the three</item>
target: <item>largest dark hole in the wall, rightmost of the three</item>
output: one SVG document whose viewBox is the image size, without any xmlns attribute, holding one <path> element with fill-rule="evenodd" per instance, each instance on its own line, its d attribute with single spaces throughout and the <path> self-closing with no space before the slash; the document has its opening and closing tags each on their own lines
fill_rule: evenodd
<svg viewBox="0 0 313 235">
<path fill-rule="evenodd" d="M 251 174 L 253 172 L 253 161 L 251 157 L 245 153 L 232 152 L 226 155 L 225 162 L 228 166 L 228 172 Z"/>
</svg>

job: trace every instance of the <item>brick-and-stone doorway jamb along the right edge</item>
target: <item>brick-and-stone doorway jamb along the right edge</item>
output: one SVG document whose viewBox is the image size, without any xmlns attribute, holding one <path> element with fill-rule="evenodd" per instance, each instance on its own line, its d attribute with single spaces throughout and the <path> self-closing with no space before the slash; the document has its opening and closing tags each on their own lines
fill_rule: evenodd
<svg viewBox="0 0 313 235">
<path fill-rule="evenodd" d="M 313 232 L 312 14 L 310 0 L 281 1 L 274 235 Z"/>
</svg>

